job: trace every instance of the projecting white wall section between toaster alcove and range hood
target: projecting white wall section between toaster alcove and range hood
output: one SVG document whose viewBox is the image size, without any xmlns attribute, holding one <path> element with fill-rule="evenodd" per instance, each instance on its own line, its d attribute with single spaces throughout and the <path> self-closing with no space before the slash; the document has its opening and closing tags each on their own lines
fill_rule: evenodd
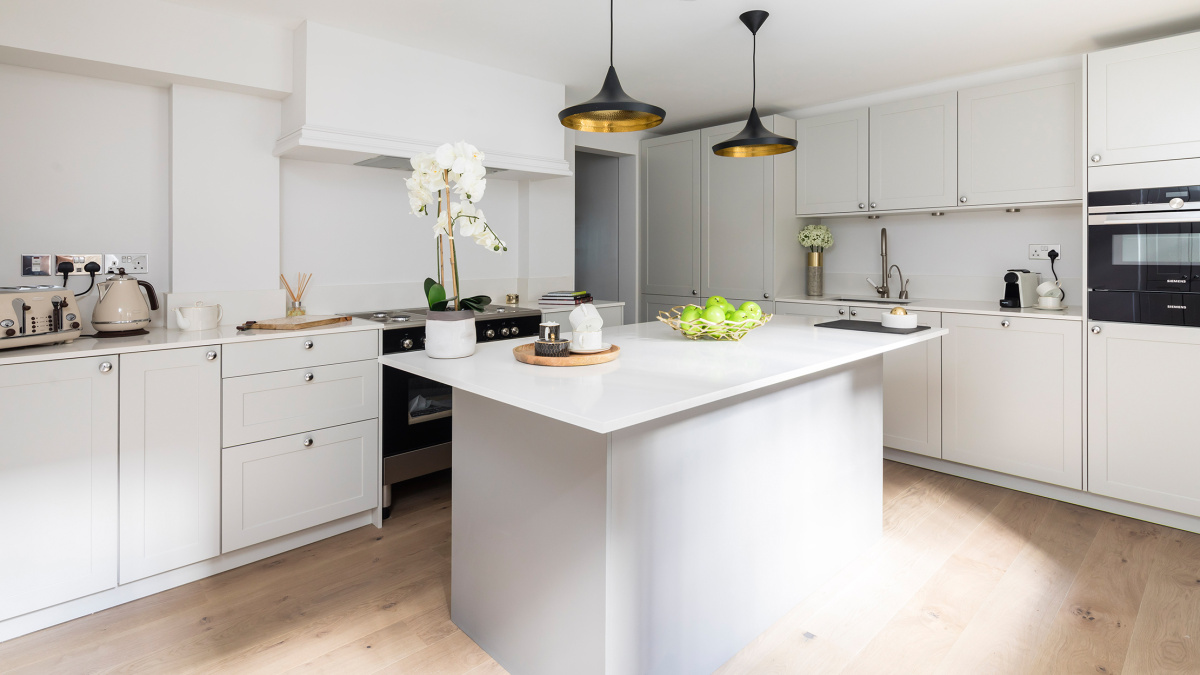
<svg viewBox="0 0 1200 675">
<path fill-rule="evenodd" d="M 170 106 L 172 291 L 277 288 L 280 102 L 174 85 Z"/>
</svg>

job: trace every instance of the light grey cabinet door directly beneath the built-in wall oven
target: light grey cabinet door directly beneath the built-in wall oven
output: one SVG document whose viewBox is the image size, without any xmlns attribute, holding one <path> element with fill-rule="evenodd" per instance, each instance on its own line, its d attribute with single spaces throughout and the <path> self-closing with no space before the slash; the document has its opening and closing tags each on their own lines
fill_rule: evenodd
<svg viewBox="0 0 1200 675">
<path fill-rule="evenodd" d="M 1088 327 L 1087 490 L 1200 515 L 1200 335 L 1168 325 Z"/>
</svg>

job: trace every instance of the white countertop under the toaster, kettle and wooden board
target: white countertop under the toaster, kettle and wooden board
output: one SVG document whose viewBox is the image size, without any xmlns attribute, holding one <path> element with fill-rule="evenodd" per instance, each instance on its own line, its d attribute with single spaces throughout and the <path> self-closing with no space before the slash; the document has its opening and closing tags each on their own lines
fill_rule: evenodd
<svg viewBox="0 0 1200 675">
<path fill-rule="evenodd" d="M 338 325 L 323 325 L 304 330 L 238 330 L 235 325 L 221 325 L 212 330 L 168 330 L 151 325 L 146 335 L 131 338 L 76 338 L 65 345 L 40 345 L 0 351 L 0 365 L 31 363 L 80 357 L 102 357 L 154 350 L 174 350 L 200 345 L 230 345 L 254 340 L 277 340 L 296 335 L 324 335 L 353 330 L 380 330 L 382 323 L 361 318 Z M 90 327 L 89 327 L 90 329 Z M 91 334 L 91 330 L 85 330 Z"/>
</svg>

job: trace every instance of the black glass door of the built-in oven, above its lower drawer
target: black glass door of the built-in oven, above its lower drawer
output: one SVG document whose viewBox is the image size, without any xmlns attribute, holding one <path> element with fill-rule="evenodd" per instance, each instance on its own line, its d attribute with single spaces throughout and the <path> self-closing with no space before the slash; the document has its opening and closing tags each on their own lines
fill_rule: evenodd
<svg viewBox="0 0 1200 675">
<path fill-rule="evenodd" d="M 1102 223 L 1091 222 L 1088 288 L 1200 291 L 1200 222 L 1114 222 L 1112 216 Z"/>
</svg>

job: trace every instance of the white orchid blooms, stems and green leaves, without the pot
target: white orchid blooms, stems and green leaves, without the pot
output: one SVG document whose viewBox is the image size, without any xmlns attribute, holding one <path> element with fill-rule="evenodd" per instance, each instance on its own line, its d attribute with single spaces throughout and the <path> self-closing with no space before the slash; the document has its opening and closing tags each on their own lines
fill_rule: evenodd
<svg viewBox="0 0 1200 675">
<path fill-rule="evenodd" d="M 496 252 L 508 251 L 503 239 L 487 225 L 487 217 L 475 204 L 484 198 L 487 179 L 484 178 L 484 154 L 469 143 L 446 143 L 433 154 L 422 153 L 412 160 L 413 175 L 404 184 L 408 187 L 408 205 L 413 215 L 427 216 L 430 207 L 437 204 L 433 235 L 438 241 L 438 277 L 425 280 L 425 298 L 430 309 L 482 311 L 492 301 L 487 295 L 458 297 L 458 258 L 455 255 L 455 232 L 470 237 L 476 244 Z M 458 201 L 451 201 L 457 195 Z M 450 253 L 450 288 L 446 297 L 444 270 L 445 253 Z"/>
</svg>

